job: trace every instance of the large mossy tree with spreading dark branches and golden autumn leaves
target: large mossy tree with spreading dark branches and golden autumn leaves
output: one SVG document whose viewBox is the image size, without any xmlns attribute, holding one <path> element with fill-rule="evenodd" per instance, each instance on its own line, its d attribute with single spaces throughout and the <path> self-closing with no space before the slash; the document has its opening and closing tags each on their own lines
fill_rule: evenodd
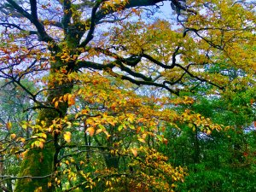
<svg viewBox="0 0 256 192">
<path fill-rule="evenodd" d="M 207 134 L 223 126 L 166 106 L 193 103 L 186 93 L 199 87 L 221 95 L 254 84 L 255 3 L 172 0 L 173 26 L 154 18 L 160 3 L 0 1 L 0 77 L 30 96 L 25 113 L 38 113 L 36 122 L 20 124 L 32 137 L 1 143 L 18 146 L 2 150 L 3 161 L 9 154 L 22 160 L 19 175 L 2 182 L 16 179 L 15 191 L 27 192 L 102 183 L 101 190 L 172 191 L 183 181 L 185 170 L 155 147 L 167 142 L 166 125 Z M 241 74 L 230 79 L 233 68 Z M 42 89 L 28 89 L 23 79 Z M 142 86 L 160 96 L 138 94 Z"/>
</svg>

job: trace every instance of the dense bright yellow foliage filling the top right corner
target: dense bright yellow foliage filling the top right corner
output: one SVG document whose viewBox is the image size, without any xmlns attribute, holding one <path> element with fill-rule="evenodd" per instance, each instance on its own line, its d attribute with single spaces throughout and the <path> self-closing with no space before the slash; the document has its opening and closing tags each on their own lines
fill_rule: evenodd
<svg viewBox="0 0 256 192">
<path fill-rule="evenodd" d="M 196 6 L 201 9 L 201 3 L 193 5 L 193 7 Z M 208 45 L 209 49 L 218 55 L 214 60 L 222 57 L 229 58 L 226 61 L 230 65 L 249 72 L 249 66 L 254 66 L 252 43 L 255 41 L 253 35 L 255 14 L 253 14 L 249 3 L 234 3 L 230 0 L 212 1 L 207 3 L 204 8 L 206 11 L 200 12 L 199 15 L 191 15 L 186 26 L 198 30 L 198 34 L 204 38 L 200 42 L 201 45 L 211 45 Z M 215 51 L 214 45 L 218 49 L 224 49 L 224 53 Z"/>
</svg>

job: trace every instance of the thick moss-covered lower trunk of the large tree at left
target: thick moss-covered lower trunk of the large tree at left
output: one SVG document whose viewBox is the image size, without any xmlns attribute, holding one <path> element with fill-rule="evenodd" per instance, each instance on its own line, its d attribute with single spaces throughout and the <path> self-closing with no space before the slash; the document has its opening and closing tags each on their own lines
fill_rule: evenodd
<svg viewBox="0 0 256 192">
<path fill-rule="evenodd" d="M 56 68 L 59 67 L 52 66 L 52 68 L 50 75 L 54 76 Z M 54 88 L 56 89 L 53 89 L 51 83 L 55 84 Z M 47 98 L 49 103 L 51 103 L 55 97 L 70 93 L 73 89 L 73 85 L 60 87 L 55 82 L 49 82 L 49 84 L 51 84 Z M 53 119 L 59 118 L 67 113 L 67 108 L 67 103 L 62 102 L 58 107 L 59 111 L 50 108 L 41 109 L 38 114 L 38 122 L 44 120 L 46 125 L 51 125 Z M 58 136 L 55 135 L 55 137 L 53 137 L 49 134 L 47 139 L 57 140 Z M 50 175 L 55 171 L 55 159 L 59 152 L 59 148 L 56 148 L 55 143 L 56 141 L 45 143 L 44 148 L 30 148 L 31 143 L 28 143 L 28 148 L 30 149 L 24 157 L 19 174 L 19 177 L 25 178 L 21 178 L 17 181 L 15 192 L 49 192 L 53 190 L 48 187 L 48 183 L 51 180 Z"/>
</svg>

